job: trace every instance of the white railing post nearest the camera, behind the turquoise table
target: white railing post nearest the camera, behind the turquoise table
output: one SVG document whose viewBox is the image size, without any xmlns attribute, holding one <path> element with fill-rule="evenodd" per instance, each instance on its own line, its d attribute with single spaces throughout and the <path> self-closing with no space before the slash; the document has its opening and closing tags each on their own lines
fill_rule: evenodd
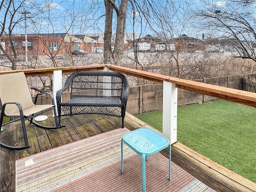
<svg viewBox="0 0 256 192">
<path fill-rule="evenodd" d="M 164 81 L 163 85 L 163 136 L 171 144 L 177 142 L 178 88 L 175 83 Z"/>
</svg>

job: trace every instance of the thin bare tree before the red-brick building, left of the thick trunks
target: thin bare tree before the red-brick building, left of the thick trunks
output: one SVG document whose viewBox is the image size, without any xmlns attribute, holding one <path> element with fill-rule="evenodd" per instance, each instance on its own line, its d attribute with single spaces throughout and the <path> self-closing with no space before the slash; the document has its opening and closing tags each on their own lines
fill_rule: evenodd
<svg viewBox="0 0 256 192">
<path fill-rule="evenodd" d="M 53 4 L 50 2 L 49 5 L 46 4 L 44 10 L 40 13 L 40 17 L 31 18 L 34 24 L 34 28 L 32 28 L 33 26 L 31 26 L 31 28 L 36 32 L 35 35 L 38 36 L 40 44 L 44 46 L 40 55 L 46 56 L 46 58 L 49 58 L 51 61 L 51 63 L 47 63 L 47 67 L 58 67 L 62 65 L 63 63 L 56 60 L 58 55 L 61 56 L 62 53 L 68 53 L 66 58 L 70 60 L 66 60 L 66 64 L 74 66 L 71 52 L 72 42 L 75 40 L 75 37 L 69 35 L 69 33 L 73 34 L 73 32 L 78 29 L 82 30 L 86 28 L 86 26 L 83 27 L 84 23 L 82 23 L 81 20 L 86 20 L 84 13 L 87 12 L 87 10 L 84 10 L 82 5 L 77 5 L 74 2 L 65 9 L 63 8 L 62 11 L 57 11 L 58 6 L 61 6 L 61 3 Z M 41 22 L 41 18 L 44 18 L 45 21 Z M 56 39 L 58 41 L 58 48 L 53 49 L 49 43 L 56 41 Z M 39 63 L 39 66 L 45 67 L 42 63 Z"/>
</svg>

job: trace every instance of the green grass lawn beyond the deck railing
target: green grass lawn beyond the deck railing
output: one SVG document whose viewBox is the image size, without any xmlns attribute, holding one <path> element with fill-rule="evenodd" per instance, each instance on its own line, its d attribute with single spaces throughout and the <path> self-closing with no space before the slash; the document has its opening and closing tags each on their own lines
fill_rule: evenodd
<svg viewBox="0 0 256 192">
<path fill-rule="evenodd" d="M 162 110 L 135 115 L 162 131 Z M 178 142 L 256 183 L 256 108 L 214 100 L 178 106 Z"/>
</svg>

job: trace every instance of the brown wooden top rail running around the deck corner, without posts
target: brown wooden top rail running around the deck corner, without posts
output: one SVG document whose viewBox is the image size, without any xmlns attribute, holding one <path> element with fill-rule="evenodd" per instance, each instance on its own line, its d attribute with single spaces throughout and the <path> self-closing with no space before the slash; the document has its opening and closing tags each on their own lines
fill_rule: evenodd
<svg viewBox="0 0 256 192">
<path fill-rule="evenodd" d="M 107 65 L 78 66 L 78 67 L 10 70 L 10 71 L 0 71 L 0 75 L 23 71 L 26 76 L 37 76 L 37 75 L 52 74 L 53 71 L 56 71 L 56 70 L 62 70 L 63 73 L 73 73 L 77 71 L 103 70 L 104 67 L 109 67 L 110 70 L 112 71 L 120 72 L 122 74 L 128 74 L 130 76 L 135 76 L 135 77 L 150 80 L 153 82 L 158 82 L 158 83 L 163 83 L 164 81 L 172 82 L 172 83 L 175 83 L 176 87 L 178 88 L 182 88 L 192 92 L 197 92 L 200 94 L 205 94 L 208 96 L 213 96 L 216 98 L 256 107 L 256 93 L 246 92 L 242 90 L 236 90 L 232 88 L 226 88 L 226 87 L 216 86 L 211 84 L 205 84 L 205 83 L 195 82 L 191 80 L 184 80 L 180 78 L 165 76 L 161 74 L 155 74 L 152 72 L 146 72 L 142 70 L 136 70 L 136 69 L 126 68 L 126 67 L 121 67 L 116 65 L 107 64 Z"/>
</svg>

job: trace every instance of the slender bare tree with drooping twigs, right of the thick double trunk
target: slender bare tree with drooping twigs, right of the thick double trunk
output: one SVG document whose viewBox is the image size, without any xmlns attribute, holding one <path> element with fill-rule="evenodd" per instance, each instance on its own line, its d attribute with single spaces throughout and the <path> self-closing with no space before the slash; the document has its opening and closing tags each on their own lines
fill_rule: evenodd
<svg viewBox="0 0 256 192">
<path fill-rule="evenodd" d="M 178 78 L 181 77 L 180 70 L 180 53 L 183 51 L 182 47 L 176 42 L 177 37 L 182 34 L 186 34 L 190 20 L 188 13 L 190 10 L 189 3 L 184 0 L 178 1 L 134 1 L 133 10 L 134 23 L 141 23 L 143 31 L 149 30 L 152 36 L 156 36 L 158 39 L 162 39 L 166 42 L 165 49 L 169 53 L 166 57 L 170 57 L 168 60 L 170 63 L 170 70 L 174 68 L 172 65 L 175 62 L 176 75 Z M 135 14 L 136 13 L 136 14 Z M 143 22 L 144 21 L 144 22 Z M 134 42 L 134 45 L 138 42 Z M 135 59 L 138 58 L 136 49 L 134 49 Z M 141 66 L 138 60 L 136 63 Z M 170 74 L 173 74 L 170 72 Z"/>
</svg>

